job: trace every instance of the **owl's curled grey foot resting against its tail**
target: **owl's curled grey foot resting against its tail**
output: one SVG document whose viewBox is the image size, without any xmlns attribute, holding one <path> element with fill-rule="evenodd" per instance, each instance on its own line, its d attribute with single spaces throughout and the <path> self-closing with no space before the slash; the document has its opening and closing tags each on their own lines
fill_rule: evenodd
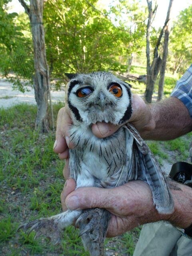
<svg viewBox="0 0 192 256">
<path fill-rule="evenodd" d="M 92 241 L 96 242 L 99 238 L 101 218 L 102 209 L 100 208 L 86 210 L 86 212 L 82 213 L 75 223 L 75 226 L 77 226 L 80 222 L 86 224 L 84 228 L 80 231 L 79 236 L 82 236 L 86 232 L 92 231 Z"/>
</svg>

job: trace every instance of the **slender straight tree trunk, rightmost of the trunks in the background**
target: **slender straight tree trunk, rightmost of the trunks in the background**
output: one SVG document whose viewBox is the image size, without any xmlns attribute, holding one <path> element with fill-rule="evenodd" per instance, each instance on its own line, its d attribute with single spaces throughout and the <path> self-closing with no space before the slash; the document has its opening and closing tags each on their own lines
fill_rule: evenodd
<svg viewBox="0 0 192 256">
<path fill-rule="evenodd" d="M 163 57 L 162 57 L 162 66 L 161 66 L 161 71 L 160 71 L 160 80 L 159 80 L 157 101 L 160 101 L 163 97 L 166 61 L 167 61 L 167 55 L 168 55 L 168 42 L 169 42 L 169 34 L 170 34 L 170 16 L 171 16 L 171 9 L 172 9 L 173 1 L 174 0 L 170 0 L 170 2 L 169 2 L 167 17 L 166 17 L 166 20 L 168 22 L 167 22 L 165 34 L 164 34 Z"/>
</svg>

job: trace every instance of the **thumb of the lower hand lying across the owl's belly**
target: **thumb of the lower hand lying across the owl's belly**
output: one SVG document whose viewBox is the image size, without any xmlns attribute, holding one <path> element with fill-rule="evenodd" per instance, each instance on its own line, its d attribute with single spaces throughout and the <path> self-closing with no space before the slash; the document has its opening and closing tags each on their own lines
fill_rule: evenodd
<svg viewBox="0 0 192 256">
<path fill-rule="evenodd" d="M 113 204 L 110 191 L 109 188 L 78 188 L 66 197 L 65 204 L 69 210 L 109 208 Z"/>
</svg>

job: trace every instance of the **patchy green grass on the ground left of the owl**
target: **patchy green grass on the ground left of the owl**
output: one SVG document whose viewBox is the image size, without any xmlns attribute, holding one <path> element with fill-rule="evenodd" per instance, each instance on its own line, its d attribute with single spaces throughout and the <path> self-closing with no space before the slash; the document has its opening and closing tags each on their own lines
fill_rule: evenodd
<svg viewBox="0 0 192 256">
<path fill-rule="evenodd" d="M 58 112 L 61 105 L 54 106 Z M 78 231 L 69 227 L 60 246 L 33 240 L 17 227 L 27 220 L 61 212 L 64 161 L 53 152 L 54 132 L 34 132 L 36 107 L 0 109 L 0 248 L 2 255 L 88 255 Z"/>
</svg>

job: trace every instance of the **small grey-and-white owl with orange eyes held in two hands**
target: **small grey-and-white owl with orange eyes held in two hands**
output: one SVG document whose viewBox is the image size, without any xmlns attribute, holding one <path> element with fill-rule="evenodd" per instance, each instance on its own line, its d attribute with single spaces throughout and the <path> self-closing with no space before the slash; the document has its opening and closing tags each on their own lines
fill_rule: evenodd
<svg viewBox="0 0 192 256">
<path fill-rule="evenodd" d="M 134 126 L 126 124 L 132 116 L 130 85 L 110 72 L 68 77 L 66 104 L 73 122 L 70 142 L 74 144 L 69 150 L 69 168 L 76 188 L 114 188 L 130 180 L 143 180 L 150 186 L 158 212 L 170 214 L 174 203 L 160 166 Z M 97 122 L 121 126 L 111 136 L 97 138 L 91 130 Z M 76 221 L 84 247 L 91 256 L 99 256 L 104 254 L 110 218 L 111 213 L 101 208 L 67 210 L 19 228 L 30 228 L 29 232 L 35 230 L 37 235 L 45 234 L 57 243 L 62 230 Z"/>
</svg>

